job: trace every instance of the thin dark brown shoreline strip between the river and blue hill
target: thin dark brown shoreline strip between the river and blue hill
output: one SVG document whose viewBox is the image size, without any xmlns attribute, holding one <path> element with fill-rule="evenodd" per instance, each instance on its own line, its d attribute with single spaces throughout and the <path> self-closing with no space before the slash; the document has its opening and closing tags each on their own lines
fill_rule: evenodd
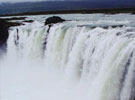
<svg viewBox="0 0 135 100">
<path fill-rule="evenodd" d="M 131 13 L 135 14 L 135 7 L 133 8 L 109 8 L 109 9 L 82 9 L 82 10 L 59 10 L 59 11 L 42 11 L 42 12 L 24 12 L 17 14 L 4 14 L 0 17 L 6 16 L 25 16 L 25 15 L 49 15 L 49 14 L 119 14 L 119 13 Z"/>
</svg>

